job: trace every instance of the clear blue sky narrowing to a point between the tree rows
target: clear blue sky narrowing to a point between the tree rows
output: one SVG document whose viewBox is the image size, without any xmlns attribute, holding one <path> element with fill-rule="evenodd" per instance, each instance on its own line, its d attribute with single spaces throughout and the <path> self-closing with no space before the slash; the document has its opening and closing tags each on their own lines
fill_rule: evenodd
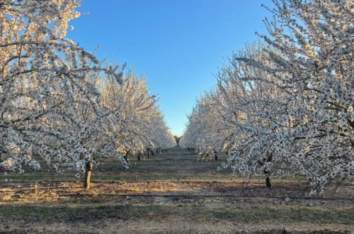
<svg viewBox="0 0 354 234">
<path fill-rule="evenodd" d="M 67 38 L 96 55 L 127 62 L 147 78 L 174 135 L 195 99 L 216 84 L 223 57 L 266 33 L 270 0 L 84 0 Z"/>
</svg>

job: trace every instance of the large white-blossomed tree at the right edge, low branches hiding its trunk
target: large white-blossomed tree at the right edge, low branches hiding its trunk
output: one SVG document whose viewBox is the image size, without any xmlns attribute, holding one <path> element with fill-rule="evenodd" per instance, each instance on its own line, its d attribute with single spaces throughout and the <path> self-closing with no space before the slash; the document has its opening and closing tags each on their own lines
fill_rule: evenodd
<svg viewBox="0 0 354 234">
<path fill-rule="evenodd" d="M 277 48 L 276 53 L 268 50 L 270 65 L 235 58 L 267 74 L 249 79 L 272 77 L 286 95 L 283 108 L 275 110 L 278 120 L 270 122 L 276 131 L 258 140 L 271 140 L 270 147 L 258 147 L 256 154 L 282 158 L 295 174 L 309 179 L 312 192 L 321 192 L 354 170 L 353 1 L 274 3 L 275 20 L 266 21 L 271 38 L 262 36 Z M 232 153 L 229 162 L 238 155 Z"/>
</svg>

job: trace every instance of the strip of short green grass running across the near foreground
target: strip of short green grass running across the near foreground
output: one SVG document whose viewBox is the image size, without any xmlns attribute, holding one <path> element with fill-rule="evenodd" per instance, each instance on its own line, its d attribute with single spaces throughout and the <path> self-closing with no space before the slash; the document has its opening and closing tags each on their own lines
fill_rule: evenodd
<svg viewBox="0 0 354 234">
<path fill-rule="evenodd" d="M 130 204 L 102 204 L 87 201 L 86 203 L 69 204 L 21 204 L 1 205 L 1 216 L 19 218 L 23 220 L 42 220 L 46 222 L 90 222 L 93 219 L 118 218 L 123 220 L 155 220 L 159 221 L 167 216 L 181 216 L 188 219 L 202 219 L 205 221 L 238 221 L 238 222 L 309 222 L 341 223 L 350 225 L 354 219 L 354 207 L 346 208 L 319 208 L 294 206 L 258 206 L 253 208 L 249 204 L 237 206 L 220 206 L 210 204 L 174 203 L 149 204 L 135 202 Z"/>
</svg>

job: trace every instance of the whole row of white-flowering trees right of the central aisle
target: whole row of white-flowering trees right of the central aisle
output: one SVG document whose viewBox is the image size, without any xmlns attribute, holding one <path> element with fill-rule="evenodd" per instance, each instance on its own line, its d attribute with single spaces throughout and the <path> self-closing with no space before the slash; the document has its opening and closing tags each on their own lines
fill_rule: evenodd
<svg viewBox="0 0 354 234">
<path fill-rule="evenodd" d="M 322 192 L 354 174 L 354 3 L 273 3 L 269 36 L 219 69 L 180 144 L 227 152 L 224 167 L 264 173 L 267 186 L 286 168 Z"/>
</svg>

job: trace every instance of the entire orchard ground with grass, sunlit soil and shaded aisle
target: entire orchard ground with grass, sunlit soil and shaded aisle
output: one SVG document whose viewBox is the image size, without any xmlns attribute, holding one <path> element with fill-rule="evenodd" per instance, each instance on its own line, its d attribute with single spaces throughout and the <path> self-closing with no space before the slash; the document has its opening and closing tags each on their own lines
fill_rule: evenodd
<svg viewBox="0 0 354 234">
<path fill-rule="evenodd" d="M 226 160 L 174 147 L 130 169 L 93 168 L 91 188 L 74 172 L 43 167 L 0 175 L 0 233 L 354 233 L 354 185 L 308 197 L 306 182 L 261 176 L 242 183 Z"/>
</svg>

